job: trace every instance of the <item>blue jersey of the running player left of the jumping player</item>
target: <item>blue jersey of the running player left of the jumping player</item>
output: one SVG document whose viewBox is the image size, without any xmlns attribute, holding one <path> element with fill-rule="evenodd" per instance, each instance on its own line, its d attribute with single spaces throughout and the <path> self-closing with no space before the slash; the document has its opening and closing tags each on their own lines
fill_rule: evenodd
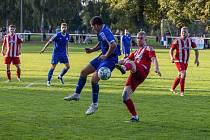
<svg viewBox="0 0 210 140">
<path fill-rule="evenodd" d="M 61 32 L 58 32 L 56 35 L 54 35 L 51 38 L 51 41 L 54 43 L 53 55 L 66 55 L 66 47 L 69 39 L 70 35 L 68 33 L 62 35 Z"/>
</svg>

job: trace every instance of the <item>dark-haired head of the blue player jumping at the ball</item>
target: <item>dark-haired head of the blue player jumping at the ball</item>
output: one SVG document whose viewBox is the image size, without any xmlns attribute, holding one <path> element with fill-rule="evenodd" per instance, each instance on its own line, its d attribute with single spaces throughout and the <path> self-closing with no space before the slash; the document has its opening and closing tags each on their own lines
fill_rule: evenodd
<svg viewBox="0 0 210 140">
<path fill-rule="evenodd" d="M 100 16 L 95 16 L 90 20 L 91 28 L 97 33 L 101 31 L 103 24 L 104 24 L 103 19 Z"/>
</svg>

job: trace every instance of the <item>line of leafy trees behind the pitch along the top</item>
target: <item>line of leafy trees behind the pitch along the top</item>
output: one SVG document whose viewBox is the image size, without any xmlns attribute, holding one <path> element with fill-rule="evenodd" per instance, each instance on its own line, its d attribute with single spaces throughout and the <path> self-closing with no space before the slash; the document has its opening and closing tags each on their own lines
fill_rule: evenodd
<svg viewBox="0 0 210 140">
<path fill-rule="evenodd" d="M 40 32 L 41 27 L 54 29 L 61 20 L 70 31 L 90 32 L 89 20 L 95 15 L 103 17 L 113 30 L 140 29 L 152 34 L 160 32 L 161 22 L 179 29 L 202 25 L 203 32 L 210 28 L 209 0 L 22 0 L 23 29 Z M 0 26 L 15 24 L 20 30 L 21 0 L 1 0 Z M 167 27 L 168 28 L 168 27 Z M 200 28 L 197 27 L 200 30 Z M 168 30 L 168 29 L 166 29 Z"/>
</svg>

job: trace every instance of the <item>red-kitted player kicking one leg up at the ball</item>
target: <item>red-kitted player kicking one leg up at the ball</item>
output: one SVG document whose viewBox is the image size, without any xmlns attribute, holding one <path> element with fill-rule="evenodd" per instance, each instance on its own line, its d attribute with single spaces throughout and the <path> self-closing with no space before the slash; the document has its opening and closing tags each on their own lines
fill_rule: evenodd
<svg viewBox="0 0 210 140">
<path fill-rule="evenodd" d="M 131 94 L 136 90 L 138 85 L 147 78 L 151 62 L 154 64 L 155 73 L 161 76 L 155 51 L 146 44 L 145 38 L 146 34 L 144 31 L 138 32 L 137 45 L 139 49 L 131 53 L 126 59 L 120 60 L 119 64 L 116 65 L 116 68 L 119 69 L 122 74 L 125 74 L 126 71 L 130 71 L 130 75 L 125 82 L 122 98 L 128 111 L 132 115 L 130 119 L 131 122 L 139 121 L 134 103 L 131 100 Z"/>
</svg>

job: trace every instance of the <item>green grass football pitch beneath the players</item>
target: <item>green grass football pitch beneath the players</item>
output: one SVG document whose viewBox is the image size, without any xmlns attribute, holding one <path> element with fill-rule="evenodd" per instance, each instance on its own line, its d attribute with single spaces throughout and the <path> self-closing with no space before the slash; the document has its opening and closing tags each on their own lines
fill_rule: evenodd
<svg viewBox="0 0 210 140">
<path fill-rule="evenodd" d="M 171 95 L 169 88 L 177 75 L 167 49 L 156 49 L 162 77 L 151 69 L 147 80 L 132 96 L 141 121 L 127 123 L 130 116 L 122 103 L 126 75 L 117 70 L 108 81 L 100 81 L 99 110 L 91 116 L 85 111 L 91 103 L 90 77 L 79 102 L 67 102 L 80 69 L 97 53 L 85 54 L 84 46 L 70 48 L 71 69 L 61 85 L 57 75 L 46 86 L 51 49 L 39 54 L 41 44 L 24 44 L 21 56 L 22 81 L 5 83 L 5 66 L 0 64 L 0 139 L 68 140 L 208 140 L 210 139 L 210 50 L 200 51 L 200 66 L 189 63 L 184 97 Z M 2 62 L 2 57 L 0 58 Z"/>
</svg>

